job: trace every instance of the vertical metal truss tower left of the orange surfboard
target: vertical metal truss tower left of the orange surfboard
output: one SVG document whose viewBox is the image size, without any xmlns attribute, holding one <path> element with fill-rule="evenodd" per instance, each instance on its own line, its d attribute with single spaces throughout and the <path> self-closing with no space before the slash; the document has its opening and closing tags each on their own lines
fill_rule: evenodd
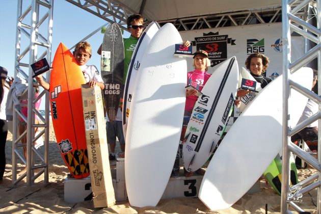
<svg viewBox="0 0 321 214">
<path fill-rule="evenodd" d="M 26 3 L 25 5 L 23 3 Z M 12 140 L 12 184 L 16 184 L 26 177 L 27 185 L 34 183 L 35 179 L 44 173 L 44 182 L 48 183 L 48 139 L 49 139 L 49 102 L 48 96 L 43 91 L 35 98 L 33 71 L 31 64 L 39 59 L 46 57 L 50 62 L 51 60 L 51 35 L 52 35 L 52 5 L 53 0 L 33 0 L 18 1 L 17 7 L 17 29 L 16 29 L 16 50 L 15 50 L 15 72 L 14 76 L 24 78 L 28 84 L 27 90 L 24 94 L 28 94 L 28 118 L 26 118 L 20 111 L 20 104 L 14 103 L 13 110 L 13 140 Z M 24 7 L 23 7 L 24 6 Z M 24 10 L 22 10 L 22 8 Z M 47 77 L 49 75 L 47 74 Z M 23 95 L 20 96 L 20 98 Z M 41 97 L 46 102 L 46 115 L 45 119 L 41 116 L 39 111 L 35 108 L 35 102 Z M 23 106 L 23 104 L 21 104 Z M 37 115 L 42 123 L 35 123 L 35 115 Z M 19 135 L 18 126 L 19 118 L 22 118 L 27 124 L 27 129 Z M 35 136 L 35 128 L 43 127 L 44 129 Z M 41 154 L 35 148 L 35 141 L 38 138 L 45 136 L 44 147 L 45 152 Z M 22 143 L 25 141 L 26 144 Z M 26 146 L 26 158 L 21 152 L 21 147 Z M 23 151 L 23 150 L 22 150 Z M 17 178 L 17 163 L 19 158 L 23 164 L 26 165 L 26 171 Z M 35 169 L 40 169 L 35 173 Z"/>
</svg>

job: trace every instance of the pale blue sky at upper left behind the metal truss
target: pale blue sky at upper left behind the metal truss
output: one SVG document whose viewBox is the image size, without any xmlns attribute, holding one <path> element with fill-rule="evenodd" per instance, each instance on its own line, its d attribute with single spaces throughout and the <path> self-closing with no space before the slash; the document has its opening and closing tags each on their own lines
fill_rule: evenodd
<svg viewBox="0 0 321 214">
<path fill-rule="evenodd" d="M 7 68 L 10 76 L 14 74 L 17 2 L 16 0 L 0 0 L 0 66 Z M 24 0 L 22 11 L 24 11 L 30 3 L 31 1 Z M 30 25 L 30 16 L 26 17 L 23 22 Z M 70 48 L 105 23 L 105 20 L 71 3 L 64 0 L 55 0 L 53 5 L 51 60 L 53 60 L 53 56 L 60 42 L 63 42 Z M 45 23 L 42 25 L 47 26 Z M 46 36 L 46 34 L 44 36 Z M 125 32 L 124 37 L 129 37 L 129 34 Z M 97 49 L 102 39 L 103 34 L 100 32 L 87 39 L 92 46 L 92 58 L 87 64 L 95 65 L 99 70 L 100 56 L 97 54 Z M 21 47 L 23 45 L 29 45 L 29 41 L 21 40 Z M 23 47 L 23 49 L 24 48 L 25 47 Z M 29 60 L 29 57 L 25 59 Z M 40 109 L 44 109 L 44 102 L 42 102 Z"/>
</svg>

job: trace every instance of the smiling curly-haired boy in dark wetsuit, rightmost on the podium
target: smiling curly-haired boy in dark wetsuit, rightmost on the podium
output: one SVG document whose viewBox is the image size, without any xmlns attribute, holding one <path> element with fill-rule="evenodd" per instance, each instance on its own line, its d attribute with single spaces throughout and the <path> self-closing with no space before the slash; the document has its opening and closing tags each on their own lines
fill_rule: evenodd
<svg viewBox="0 0 321 214">
<path fill-rule="evenodd" d="M 269 63 L 269 58 L 263 55 L 263 53 L 252 53 L 245 61 L 246 68 L 250 71 L 256 82 L 261 84 L 262 89 L 272 82 L 270 78 L 262 75 L 268 69 Z M 247 93 L 250 93 L 250 90 L 239 89 L 237 96 L 243 97 Z"/>
</svg>

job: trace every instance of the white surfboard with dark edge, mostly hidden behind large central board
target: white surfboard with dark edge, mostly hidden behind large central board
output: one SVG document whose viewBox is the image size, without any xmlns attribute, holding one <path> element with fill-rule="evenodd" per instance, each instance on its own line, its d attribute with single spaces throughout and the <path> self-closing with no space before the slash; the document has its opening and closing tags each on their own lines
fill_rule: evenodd
<svg viewBox="0 0 321 214">
<path fill-rule="evenodd" d="M 161 28 L 156 21 L 151 22 L 139 38 L 128 67 L 126 83 L 124 88 L 124 101 L 123 101 L 123 133 L 126 139 L 126 129 L 128 122 L 128 115 L 130 110 L 130 103 L 132 99 L 132 91 L 135 86 L 137 73 L 140 68 L 142 57 L 145 53 L 146 47 L 150 40 L 153 38 L 158 29 Z"/>
</svg>

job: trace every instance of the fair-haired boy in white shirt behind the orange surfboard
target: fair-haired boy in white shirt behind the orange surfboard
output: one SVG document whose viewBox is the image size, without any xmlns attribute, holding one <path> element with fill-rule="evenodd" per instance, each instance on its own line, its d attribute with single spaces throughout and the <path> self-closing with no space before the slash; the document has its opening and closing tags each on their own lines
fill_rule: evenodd
<svg viewBox="0 0 321 214">
<path fill-rule="evenodd" d="M 91 58 L 91 46 L 89 42 L 82 41 L 78 42 L 75 46 L 74 51 L 72 52 L 77 64 L 81 67 L 83 74 L 85 76 L 86 83 L 90 87 L 99 86 L 100 89 L 104 89 L 104 84 L 101 78 L 101 75 L 94 65 L 87 65 L 86 63 Z M 36 81 L 42 86 L 45 90 L 49 90 L 50 84 L 45 82 L 42 78 L 42 75 L 35 77 Z"/>
</svg>

